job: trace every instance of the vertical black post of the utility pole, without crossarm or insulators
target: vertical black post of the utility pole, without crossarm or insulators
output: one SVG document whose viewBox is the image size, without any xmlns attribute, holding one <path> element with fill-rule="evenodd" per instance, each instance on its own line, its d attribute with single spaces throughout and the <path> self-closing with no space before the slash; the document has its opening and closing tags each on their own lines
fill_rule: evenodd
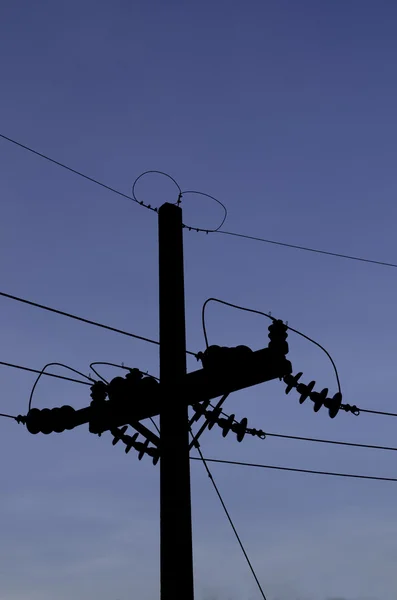
<svg viewBox="0 0 397 600">
<path fill-rule="evenodd" d="M 161 600 L 193 600 L 182 209 L 159 219 Z"/>
</svg>

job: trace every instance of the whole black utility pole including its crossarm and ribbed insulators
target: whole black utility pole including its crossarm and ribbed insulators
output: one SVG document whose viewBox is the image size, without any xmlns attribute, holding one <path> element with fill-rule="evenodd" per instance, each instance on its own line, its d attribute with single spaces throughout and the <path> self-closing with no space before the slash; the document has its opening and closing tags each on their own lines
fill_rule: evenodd
<svg viewBox="0 0 397 600">
<path fill-rule="evenodd" d="M 331 418 L 340 409 L 354 414 L 359 409 L 342 404 L 339 392 L 328 398 L 327 388 L 315 392 L 314 381 L 308 385 L 299 382 L 302 373 L 293 375 L 286 358 L 288 326 L 274 317 L 267 347 L 253 351 L 247 346 L 209 346 L 196 355 L 202 368 L 187 373 L 182 209 L 177 204 L 161 206 L 158 228 L 160 383 L 140 369 L 128 367 L 125 377 L 115 377 L 109 383 L 94 381 L 91 402 L 85 408 L 29 407 L 28 414 L 16 420 L 24 423 L 31 434 L 45 435 L 88 423 L 91 434 L 110 431 L 112 445 L 121 440 L 125 453 L 134 448 L 139 460 L 145 455 L 153 459 L 154 465 L 160 460 L 160 597 L 194 600 L 189 406 L 195 412 L 190 424 L 205 419 L 196 439 L 207 426 L 211 429 L 218 425 L 223 437 L 232 431 L 238 442 L 245 435 L 264 439 L 266 434 L 249 428 L 246 418 L 238 422 L 234 414 L 221 416 L 219 402 L 212 410 L 210 401 L 221 396 L 223 401 L 232 392 L 266 381 L 283 380 L 287 394 L 296 388 L 300 404 L 310 398 L 315 412 L 325 406 Z M 160 416 L 160 437 L 141 423 L 156 415 Z M 126 434 L 128 426 L 136 430 L 134 435 Z M 139 441 L 139 435 L 145 441 Z"/>
</svg>

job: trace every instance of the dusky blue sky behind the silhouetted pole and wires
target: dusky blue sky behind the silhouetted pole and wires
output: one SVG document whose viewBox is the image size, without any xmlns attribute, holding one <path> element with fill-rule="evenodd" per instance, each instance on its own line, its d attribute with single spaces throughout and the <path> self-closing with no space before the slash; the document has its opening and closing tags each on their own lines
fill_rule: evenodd
<svg viewBox="0 0 397 600">
<path fill-rule="evenodd" d="M 147 169 L 228 207 L 225 228 L 396 262 L 397 7 L 392 1 L 4 0 L 1 133 L 129 194 Z M 158 337 L 154 213 L 0 141 L 2 290 Z M 151 204 L 165 178 L 140 181 Z M 209 200 L 184 220 L 216 226 Z M 396 410 L 395 272 L 223 235 L 185 233 L 188 348 L 216 296 L 272 311 L 322 343 L 346 402 Z M 158 374 L 158 349 L 1 299 L 1 360 L 88 373 L 94 360 Z M 208 307 L 210 343 L 267 345 L 268 322 Z M 290 336 L 304 381 L 336 384 Z M 196 368 L 188 361 L 189 369 Z M 57 371 L 61 372 L 61 371 Z M 113 377 L 117 371 L 104 369 Z M 24 413 L 34 375 L 1 367 L 1 410 Z M 34 403 L 86 406 L 88 388 L 43 378 Z M 314 414 L 280 382 L 227 410 L 265 431 L 397 445 L 392 418 Z M 208 457 L 397 476 L 394 454 L 203 437 Z M 0 420 L 1 600 L 159 593 L 159 472 L 86 427 L 31 436 Z M 269 600 L 389 600 L 395 484 L 211 466 Z M 204 468 L 192 464 L 198 600 L 259 598 Z"/>
</svg>

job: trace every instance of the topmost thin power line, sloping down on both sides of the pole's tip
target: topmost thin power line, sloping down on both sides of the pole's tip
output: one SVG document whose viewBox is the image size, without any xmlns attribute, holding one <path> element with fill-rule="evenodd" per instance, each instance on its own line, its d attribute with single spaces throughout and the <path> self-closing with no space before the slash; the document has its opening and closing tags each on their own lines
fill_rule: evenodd
<svg viewBox="0 0 397 600">
<path fill-rule="evenodd" d="M 109 190 L 110 192 L 117 194 L 118 196 L 122 196 L 123 198 L 126 198 L 127 200 L 132 200 L 133 202 L 137 202 L 141 206 L 145 206 L 145 208 L 150 208 L 151 210 L 156 210 L 152 207 L 149 207 L 149 205 L 144 204 L 143 202 L 139 202 L 136 198 L 133 198 L 132 196 L 128 196 L 127 194 L 120 192 L 120 190 L 117 190 L 116 188 L 113 188 L 105 183 L 102 183 L 101 181 L 98 181 L 97 179 L 94 179 L 93 177 L 89 177 L 88 175 L 85 175 L 81 171 L 77 171 L 76 169 L 68 167 L 67 165 L 65 165 L 57 160 L 54 160 L 53 158 L 50 158 L 49 156 L 42 154 L 41 152 L 38 152 L 37 150 L 34 150 L 33 148 L 26 146 L 25 144 L 17 142 L 16 140 L 14 140 L 2 133 L 0 133 L 0 138 L 2 138 L 3 140 L 6 140 L 7 142 L 10 142 L 11 144 L 15 144 L 16 146 L 19 146 L 20 148 L 27 150 L 28 152 L 31 152 L 32 154 L 35 154 L 36 156 L 39 156 L 40 158 L 43 158 L 44 160 L 47 160 L 47 161 L 57 165 L 58 167 L 61 167 L 62 169 L 66 169 L 67 171 L 70 171 L 71 173 L 74 173 L 75 175 L 78 175 L 79 177 L 82 177 L 83 179 L 86 179 L 87 181 L 91 181 L 91 183 L 95 183 L 96 185 L 99 185 L 99 186 L 105 188 L 106 190 Z M 257 237 L 257 236 L 253 236 L 253 235 L 247 235 L 247 234 L 243 234 L 243 233 L 237 233 L 234 231 L 209 230 L 209 229 L 200 229 L 200 228 L 194 228 L 194 227 L 188 227 L 188 226 L 186 226 L 186 228 L 190 229 L 190 230 L 198 231 L 198 232 L 204 232 L 204 233 L 223 233 L 224 235 L 243 238 L 243 239 L 247 239 L 247 240 L 255 240 L 258 242 L 263 242 L 265 244 L 274 244 L 277 246 L 293 248 L 295 250 L 305 250 L 306 252 L 314 252 L 316 254 L 324 254 L 327 256 L 334 256 L 337 258 L 344 258 L 347 260 L 355 260 L 355 261 L 359 261 L 359 262 L 380 265 L 383 267 L 392 267 L 394 269 L 397 268 L 397 264 L 395 264 L 395 263 L 389 263 L 389 262 L 380 261 L 380 260 L 372 260 L 369 258 L 362 258 L 362 257 L 358 257 L 358 256 L 351 256 L 349 254 L 341 254 L 338 252 L 319 250 L 318 248 L 309 248 L 307 246 L 299 246 L 297 244 L 288 244 L 286 242 L 279 242 L 276 240 L 268 240 L 266 238 L 261 238 L 261 237 Z"/>
</svg>

